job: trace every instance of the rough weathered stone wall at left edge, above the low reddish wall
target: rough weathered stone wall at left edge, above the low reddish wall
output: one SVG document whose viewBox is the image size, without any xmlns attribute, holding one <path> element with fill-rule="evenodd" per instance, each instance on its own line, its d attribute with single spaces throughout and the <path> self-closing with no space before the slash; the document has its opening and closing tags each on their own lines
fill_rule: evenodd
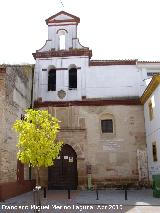
<svg viewBox="0 0 160 213">
<path fill-rule="evenodd" d="M 31 104 L 32 66 L 1 66 L 0 73 L 0 183 L 17 179 L 17 136 L 12 130 Z"/>
</svg>

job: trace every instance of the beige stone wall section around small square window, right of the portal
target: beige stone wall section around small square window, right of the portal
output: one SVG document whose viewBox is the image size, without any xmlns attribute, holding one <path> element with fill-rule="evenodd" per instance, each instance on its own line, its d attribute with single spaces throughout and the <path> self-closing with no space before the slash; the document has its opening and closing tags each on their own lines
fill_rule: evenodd
<svg viewBox="0 0 160 213">
<path fill-rule="evenodd" d="M 93 184 L 135 184 L 139 177 L 137 149 L 146 147 L 143 107 L 102 106 L 81 111 L 86 119 L 87 161 Z M 111 115 L 114 133 L 102 133 L 100 120 Z"/>
</svg>

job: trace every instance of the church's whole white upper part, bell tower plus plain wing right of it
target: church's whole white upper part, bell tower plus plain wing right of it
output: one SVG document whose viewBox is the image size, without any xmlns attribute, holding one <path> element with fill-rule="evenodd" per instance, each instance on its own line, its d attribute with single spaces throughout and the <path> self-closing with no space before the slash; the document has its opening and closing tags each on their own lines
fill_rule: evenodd
<svg viewBox="0 0 160 213">
<path fill-rule="evenodd" d="M 92 51 L 83 47 L 77 38 L 79 21 L 79 18 L 63 11 L 46 20 L 48 40 L 33 54 L 36 59 L 35 100 L 139 97 L 143 81 L 141 72 L 136 67 L 137 61 L 90 60 Z M 52 91 L 48 91 L 50 69 L 57 71 L 56 85 Z M 77 84 L 69 85 L 69 76 L 74 75 L 74 69 L 77 70 Z M 61 90 L 65 92 L 63 99 L 58 96 L 58 91 Z"/>
</svg>

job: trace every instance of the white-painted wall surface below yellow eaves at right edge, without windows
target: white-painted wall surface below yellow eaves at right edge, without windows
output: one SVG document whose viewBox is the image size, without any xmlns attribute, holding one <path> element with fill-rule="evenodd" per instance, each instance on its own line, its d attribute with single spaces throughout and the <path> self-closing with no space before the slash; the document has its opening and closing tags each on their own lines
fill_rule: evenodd
<svg viewBox="0 0 160 213">
<path fill-rule="evenodd" d="M 144 117 L 145 117 L 145 129 L 146 129 L 146 142 L 148 152 L 148 167 L 149 177 L 152 178 L 152 174 L 160 174 L 160 86 L 158 86 L 153 94 L 144 104 Z M 153 108 L 154 118 L 150 121 L 149 118 L 149 101 L 154 99 L 155 106 Z M 152 143 L 156 142 L 157 146 L 157 161 L 153 161 Z"/>
</svg>

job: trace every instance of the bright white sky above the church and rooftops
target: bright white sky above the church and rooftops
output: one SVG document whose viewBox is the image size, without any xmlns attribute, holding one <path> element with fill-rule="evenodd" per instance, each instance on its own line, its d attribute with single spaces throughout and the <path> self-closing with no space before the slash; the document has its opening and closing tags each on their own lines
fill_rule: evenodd
<svg viewBox="0 0 160 213">
<path fill-rule="evenodd" d="M 160 61 L 160 0 L 0 0 L 0 8 L 0 64 L 34 64 L 45 20 L 61 10 L 80 18 L 92 59 Z"/>
</svg>

